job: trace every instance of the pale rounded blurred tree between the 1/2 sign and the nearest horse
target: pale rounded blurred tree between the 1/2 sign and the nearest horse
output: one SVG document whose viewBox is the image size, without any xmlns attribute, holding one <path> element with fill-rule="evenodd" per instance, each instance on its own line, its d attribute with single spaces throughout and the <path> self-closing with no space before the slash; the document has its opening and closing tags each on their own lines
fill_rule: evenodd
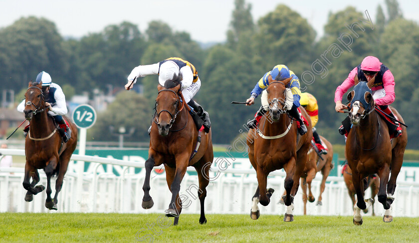
<svg viewBox="0 0 419 243">
<path fill-rule="evenodd" d="M 133 91 L 122 91 L 106 111 L 98 114 L 97 122 L 89 134 L 94 140 L 112 141 L 118 138 L 109 132 L 110 126 L 114 126 L 115 129 L 124 126 L 127 130 L 133 127 L 134 134 L 126 137 L 127 141 L 148 141 L 147 129 L 151 124 L 152 115 L 143 96 Z"/>
</svg>

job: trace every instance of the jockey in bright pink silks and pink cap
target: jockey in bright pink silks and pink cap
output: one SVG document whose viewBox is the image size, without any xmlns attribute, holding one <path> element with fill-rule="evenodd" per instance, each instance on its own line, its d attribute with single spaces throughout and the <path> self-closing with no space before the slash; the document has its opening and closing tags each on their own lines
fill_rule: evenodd
<svg viewBox="0 0 419 243">
<path fill-rule="evenodd" d="M 342 104 L 342 96 L 349 88 L 355 84 L 355 75 L 358 76 L 359 81 L 370 81 L 376 75 L 374 84 L 371 87 L 372 95 L 374 98 L 374 105 L 379 106 L 380 109 L 387 115 L 393 117 L 396 121 L 397 129 L 394 132 L 394 137 L 398 137 L 402 134 L 402 128 L 397 122 L 396 116 L 393 114 L 389 105 L 392 104 L 396 98 L 394 93 L 394 76 L 390 69 L 378 60 L 377 57 L 367 56 L 362 60 L 362 63 L 355 67 L 350 73 L 348 78 L 338 86 L 335 92 L 335 110 L 337 112 L 347 109 L 347 106 Z M 348 120 L 349 118 L 345 119 Z M 348 122 L 342 122 L 348 123 Z M 347 133 L 344 126 L 339 127 L 339 133 L 342 135 Z"/>
</svg>

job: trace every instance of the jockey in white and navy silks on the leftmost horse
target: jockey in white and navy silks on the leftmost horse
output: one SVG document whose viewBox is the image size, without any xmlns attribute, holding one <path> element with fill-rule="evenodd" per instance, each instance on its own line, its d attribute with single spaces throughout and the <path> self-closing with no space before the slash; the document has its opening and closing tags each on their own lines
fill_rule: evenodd
<svg viewBox="0 0 419 243">
<path fill-rule="evenodd" d="M 67 142 L 71 137 L 71 129 L 62 118 L 62 116 L 66 115 L 68 112 L 64 93 L 59 85 L 52 83 L 51 76 L 49 76 L 48 73 L 42 71 L 38 74 L 38 76 L 36 76 L 35 82 L 40 83 L 41 81 L 42 93 L 45 98 L 45 107 L 49 110 L 48 115 L 53 117 L 55 122 L 58 123 L 58 132 L 62 136 L 63 141 Z M 17 111 L 23 113 L 25 105 L 25 100 L 23 100 L 17 106 Z M 29 131 L 29 125 L 27 125 L 23 131 L 26 136 Z"/>
</svg>

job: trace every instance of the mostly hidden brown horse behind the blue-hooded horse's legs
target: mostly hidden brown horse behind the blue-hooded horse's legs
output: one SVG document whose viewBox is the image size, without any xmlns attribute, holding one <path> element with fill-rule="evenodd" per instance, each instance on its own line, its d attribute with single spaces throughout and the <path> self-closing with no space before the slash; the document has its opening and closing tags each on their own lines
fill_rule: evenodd
<svg viewBox="0 0 419 243">
<path fill-rule="evenodd" d="M 349 166 L 345 165 L 343 170 L 342 170 L 342 174 L 343 174 L 343 179 L 345 180 L 346 188 L 348 188 L 349 196 L 351 197 L 351 200 L 352 200 L 352 206 L 354 206 L 355 203 L 356 203 L 356 201 L 355 201 L 356 191 L 355 191 L 355 188 L 354 188 L 354 183 L 352 183 L 352 170 L 351 170 L 351 168 L 349 168 Z M 364 187 L 366 187 L 366 188 L 370 187 L 371 188 L 371 198 L 374 199 L 375 196 L 377 195 L 378 189 L 380 187 L 380 180 L 378 179 L 378 176 L 377 175 L 369 175 L 367 178 L 365 178 L 364 179 Z M 375 202 L 375 200 L 373 200 L 371 202 L 371 208 L 373 210 L 372 216 L 375 216 L 374 202 Z M 364 209 L 363 211 L 364 211 L 364 213 L 368 213 L 368 208 Z"/>
</svg>

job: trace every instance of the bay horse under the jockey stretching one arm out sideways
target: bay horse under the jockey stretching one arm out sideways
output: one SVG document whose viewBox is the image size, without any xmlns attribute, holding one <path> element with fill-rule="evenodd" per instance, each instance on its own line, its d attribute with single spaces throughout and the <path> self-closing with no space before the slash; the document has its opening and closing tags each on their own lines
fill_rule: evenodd
<svg viewBox="0 0 419 243">
<path fill-rule="evenodd" d="M 207 223 L 204 202 L 206 187 L 210 182 L 209 170 L 214 158 L 212 152 L 211 130 L 209 133 L 198 131 L 189 107 L 181 92 L 182 76 L 166 81 L 164 87 L 158 86 L 156 113 L 150 131 L 149 157 L 145 162 L 146 177 L 143 190 L 142 207 L 149 209 L 154 202 L 150 196 L 150 174 L 154 166 L 164 164 L 166 181 L 172 192 L 166 217 L 175 217 L 174 225 L 179 222 L 182 211 L 182 198 L 179 197 L 181 181 L 188 166 L 195 167 L 198 173 L 198 197 L 201 203 L 200 224 Z M 197 142 L 200 139 L 200 143 Z M 194 150 L 196 152 L 194 152 Z"/>
</svg>

